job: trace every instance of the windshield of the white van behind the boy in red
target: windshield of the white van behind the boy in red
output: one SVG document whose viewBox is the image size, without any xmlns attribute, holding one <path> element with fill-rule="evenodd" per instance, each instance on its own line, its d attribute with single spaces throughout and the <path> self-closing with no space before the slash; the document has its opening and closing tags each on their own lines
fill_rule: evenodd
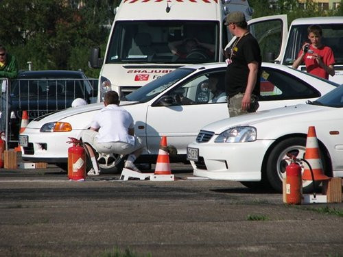
<svg viewBox="0 0 343 257">
<path fill-rule="evenodd" d="M 285 50 L 284 65 L 292 65 L 298 57 L 300 48 L 307 42 L 306 25 L 294 25 L 289 31 L 289 42 Z M 343 24 L 320 24 L 322 27 L 322 44 L 331 47 L 335 64 L 343 64 Z"/>
</svg>

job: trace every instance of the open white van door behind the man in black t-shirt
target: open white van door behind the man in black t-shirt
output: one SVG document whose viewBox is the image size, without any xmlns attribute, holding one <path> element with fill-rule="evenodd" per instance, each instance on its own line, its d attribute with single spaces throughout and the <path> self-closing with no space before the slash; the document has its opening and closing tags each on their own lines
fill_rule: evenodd
<svg viewBox="0 0 343 257">
<path fill-rule="evenodd" d="M 259 42 L 263 62 L 280 63 L 287 42 L 287 15 L 265 16 L 248 21 L 250 33 Z M 233 45 L 233 37 L 226 49 Z"/>
</svg>

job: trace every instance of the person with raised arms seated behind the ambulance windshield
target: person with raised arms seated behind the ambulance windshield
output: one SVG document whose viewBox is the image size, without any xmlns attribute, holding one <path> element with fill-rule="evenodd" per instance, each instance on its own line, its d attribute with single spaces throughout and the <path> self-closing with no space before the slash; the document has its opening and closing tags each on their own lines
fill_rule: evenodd
<svg viewBox="0 0 343 257">
<path fill-rule="evenodd" d="M 176 56 L 180 58 L 187 58 L 192 51 L 204 51 L 207 56 L 213 56 L 215 46 L 208 43 L 202 43 L 197 38 L 186 38 L 185 40 L 179 40 L 169 42 L 168 47 Z"/>
</svg>

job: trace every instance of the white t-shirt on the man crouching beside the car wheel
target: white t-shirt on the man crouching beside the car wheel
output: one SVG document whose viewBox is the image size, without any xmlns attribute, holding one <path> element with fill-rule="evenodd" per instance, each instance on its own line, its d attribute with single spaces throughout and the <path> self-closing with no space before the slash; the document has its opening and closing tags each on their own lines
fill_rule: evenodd
<svg viewBox="0 0 343 257">
<path fill-rule="evenodd" d="M 95 114 L 91 127 L 99 129 L 97 143 L 126 142 L 134 145 L 134 136 L 128 134 L 128 129 L 134 127 L 131 114 L 115 104 L 109 104 Z"/>
</svg>

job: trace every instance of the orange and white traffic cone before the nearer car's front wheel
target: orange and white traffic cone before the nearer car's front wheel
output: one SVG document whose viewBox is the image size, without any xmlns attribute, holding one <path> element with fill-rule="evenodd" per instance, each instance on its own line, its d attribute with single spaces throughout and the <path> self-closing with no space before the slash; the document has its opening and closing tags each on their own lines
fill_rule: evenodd
<svg viewBox="0 0 343 257">
<path fill-rule="evenodd" d="M 309 132 L 307 133 L 305 160 L 307 160 L 311 165 L 314 173 L 314 180 L 330 179 L 327 175 L 324 175 L 323 172 L 322 160 L 320 159 L 319 154 L 318 139 L 314 126 L 310 126 Z M 308 165 L 306 165 L 306 169 L 304 169 L 303 180 L 312 180 L 311 171 Z"/>
</svg>

